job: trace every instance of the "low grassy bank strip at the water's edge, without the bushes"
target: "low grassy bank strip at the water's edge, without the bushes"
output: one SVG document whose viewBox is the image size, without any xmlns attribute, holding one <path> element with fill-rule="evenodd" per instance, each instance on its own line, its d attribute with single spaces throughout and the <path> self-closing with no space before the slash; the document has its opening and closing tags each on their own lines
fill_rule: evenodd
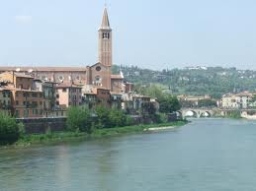
<svg viewBox="0 0 256 191">
<path fill-rule="evenodd" d="M 84 132 L 70 132 L 64 131 L 59 133 L 46 133 L 46 134 L 36 134 L 36 135 L 25 135 L 18 142 L 16 142 L 12 146 L 7 147 L 30 147 L 33 145 L 41 145 L 41 144 L 55 144 L 61 142 L 68 141 L 76 141 L 76 140 L 86 140 L 86 139 L 99 139 L 103 137 L 110 136 L 119 136 L 125 134 L 132 133 L 141 133 L 146 130 L 154 129 L 159 130 L 163 128 L 174 128 L 184 126 L 188 123 L 188 121 L 177 121 L 170 123 L 161 123 L 161 124 L 150 124 L 150 125 L 135 125 L 135 126 L 127 126 L 127 127 L 115 127 L 115 128 L 107 128 L 107 129 L 95 129 L 91 134 Z"/>
</svg>

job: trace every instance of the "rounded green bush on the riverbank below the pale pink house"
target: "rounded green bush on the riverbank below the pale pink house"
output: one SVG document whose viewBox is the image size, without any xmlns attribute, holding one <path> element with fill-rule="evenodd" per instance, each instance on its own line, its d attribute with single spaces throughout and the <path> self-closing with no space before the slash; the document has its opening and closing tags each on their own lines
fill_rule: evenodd
<svg viewBox="0 0 256 191">
<path fill-rule="evenodd" d="M 71 107 L 67 111 L 67 127 L 72 131 L 92 132 L 90 111 L 83 107 Z"/>
</svg>

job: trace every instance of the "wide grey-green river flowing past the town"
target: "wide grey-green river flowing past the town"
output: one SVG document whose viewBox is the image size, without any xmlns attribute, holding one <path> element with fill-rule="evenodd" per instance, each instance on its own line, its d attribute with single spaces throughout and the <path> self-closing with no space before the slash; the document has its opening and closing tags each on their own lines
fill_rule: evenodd
<svg viewBox="0 0 256 191">
<path fill-rule="evenodd" d="M 0 190 L 254 191 L 256 121 L 0 150 Z"/>
</svg>

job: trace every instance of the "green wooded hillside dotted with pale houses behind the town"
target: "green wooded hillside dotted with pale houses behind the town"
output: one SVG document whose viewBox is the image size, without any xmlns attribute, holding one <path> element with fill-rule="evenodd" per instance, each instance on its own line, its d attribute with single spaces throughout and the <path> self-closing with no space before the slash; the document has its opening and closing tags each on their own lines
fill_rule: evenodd
<svg viewBox="0 0 256 191">
<path fill-rule="evenodd" d="M 158 84 L 174 95 L 211 95 L 256 90 L 256 71 L 221 67 L 191 67 L 153 71 L 136 66 L 114 66 L 122 70 L 126 81 L 140 85 Z"/>
</svg>

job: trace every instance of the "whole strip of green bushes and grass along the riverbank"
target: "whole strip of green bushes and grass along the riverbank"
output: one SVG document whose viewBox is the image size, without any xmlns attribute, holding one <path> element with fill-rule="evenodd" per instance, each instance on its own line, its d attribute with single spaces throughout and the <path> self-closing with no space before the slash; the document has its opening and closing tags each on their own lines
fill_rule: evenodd
<svg viewBox="0 0 256 191">
<path fill-rule="evenodd" d="M 27 134 L 23 124 L 17 124 L 15 118 L 1 113 L 0 144 L 2 146 L 27 147 L 43 143 L 139 133 L 150 128 L 177 127 L 187 123 L 186 120 L 168 122 L 167 116 L 161 113 L 150 116 L 153 119 L 152 124 L 134 125 L 130 116 L 123 111 L 107 109 L 103 106 L 97 107 L 94 114 L 96 117 L 93 117 L 86 108 L 72 107 L 68 110 L 64 131 L 51 132 L 49 128 L 45 134 Z"/>
</svg>

